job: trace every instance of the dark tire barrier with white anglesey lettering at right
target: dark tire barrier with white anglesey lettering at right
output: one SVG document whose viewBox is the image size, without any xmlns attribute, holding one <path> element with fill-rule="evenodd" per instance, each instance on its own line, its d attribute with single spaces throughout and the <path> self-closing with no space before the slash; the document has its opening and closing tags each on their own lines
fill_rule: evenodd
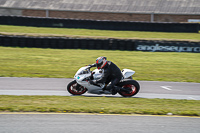
<svg viewBox="0 0 200 133">
<path fill-rule="evenodd" d="M 132 39 L 121 40 L 0 35 L 0 46 L 55 49 L 95 49 L 200 53 L 200 42 L 153 40 L 147 41 Z"/>
</svg>

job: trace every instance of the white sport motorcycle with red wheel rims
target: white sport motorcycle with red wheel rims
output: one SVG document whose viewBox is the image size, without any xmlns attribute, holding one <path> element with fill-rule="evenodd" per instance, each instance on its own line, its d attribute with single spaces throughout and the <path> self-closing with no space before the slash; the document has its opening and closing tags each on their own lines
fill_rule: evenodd
<svg viewBox="0 0 200 133">
<path fill-rule="evenodd" d="M 91 66 L 81 67 L 75 74 L 74 80 L 67 85 L 67 91 L 72 95 L 82 95 L 85 92 L 91 94 L 112 94 L 110 90 L 106 90 L 105 83 L 90 84 L 89 80 L 97 80 L 102 77 L 103 69 L 90 70 Z M 120 87 L 118 93 L 123 97 L 131 97 L 136 95 L 140 90 L 140 85 L 136 80 L 132 79 L 135 71 L 130 69 L 122 70 L 122 79 L 117 84 Z"/>
</svg>

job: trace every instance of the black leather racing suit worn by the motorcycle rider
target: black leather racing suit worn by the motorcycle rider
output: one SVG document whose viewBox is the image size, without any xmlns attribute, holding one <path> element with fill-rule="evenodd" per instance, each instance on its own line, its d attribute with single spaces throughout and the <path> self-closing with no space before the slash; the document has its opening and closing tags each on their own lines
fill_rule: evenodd
<svg viewBox="0 0 200 133">
<path fill-rule="evenodd" d="M 115 85 L 119 83 L 119 81 L 122 79 L 122 73 L 119 67 L 117 67 L 113 62 L 107 61 L 106 66 L 103 68 L 103 74 L 102 77 L 94 83 L 106 83 L 110 84 L 107 85 L 106 89 L 107 90 L 112 90 L 115 89 Z"/>
</svg>

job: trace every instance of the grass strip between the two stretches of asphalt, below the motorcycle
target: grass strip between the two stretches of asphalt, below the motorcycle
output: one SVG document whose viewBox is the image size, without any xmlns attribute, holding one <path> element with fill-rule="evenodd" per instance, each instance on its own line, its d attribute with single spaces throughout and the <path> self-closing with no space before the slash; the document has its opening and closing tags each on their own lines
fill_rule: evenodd
<svg viewBox="0 0 200 133">
<path fill-rule="evenodd" d="M 0 97 L 0 112 L 57 112 L 200 116 L 200 101 L 85 96 Z"/>
</svg>

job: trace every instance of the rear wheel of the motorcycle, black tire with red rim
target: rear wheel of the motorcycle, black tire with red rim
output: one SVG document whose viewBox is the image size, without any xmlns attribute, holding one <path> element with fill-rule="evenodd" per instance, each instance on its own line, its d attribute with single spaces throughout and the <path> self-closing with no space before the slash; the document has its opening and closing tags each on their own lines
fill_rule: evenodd
<svg viewBox="0 0 200 133">
<path fill-rule="evenodd" d="M 135 80 L 130 80 L 130 79 L 121 81 L 119 83 L 119 86 L 122 87 L 123 89 L 129 90 L 129 91 L 123 91 L 122 89 L 118 92 L 123 97 L 132 97 L 136 95 L 140 90 L 139 83 Z"/>
</svg>

